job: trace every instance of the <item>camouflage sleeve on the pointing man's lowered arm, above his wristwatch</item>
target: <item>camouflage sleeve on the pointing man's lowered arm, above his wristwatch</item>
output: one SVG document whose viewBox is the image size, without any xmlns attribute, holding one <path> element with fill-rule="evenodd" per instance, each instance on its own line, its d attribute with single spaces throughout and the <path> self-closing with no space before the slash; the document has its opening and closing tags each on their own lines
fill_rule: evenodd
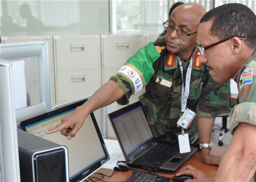
<svg viewBox="0 0 256 182">
<path fill-rule="evenodd" d="M 197 103 L 197 117 L 229 116 L 230 110 L 230 81 L 219 84 L 209 76 Z"/>
</svg>

